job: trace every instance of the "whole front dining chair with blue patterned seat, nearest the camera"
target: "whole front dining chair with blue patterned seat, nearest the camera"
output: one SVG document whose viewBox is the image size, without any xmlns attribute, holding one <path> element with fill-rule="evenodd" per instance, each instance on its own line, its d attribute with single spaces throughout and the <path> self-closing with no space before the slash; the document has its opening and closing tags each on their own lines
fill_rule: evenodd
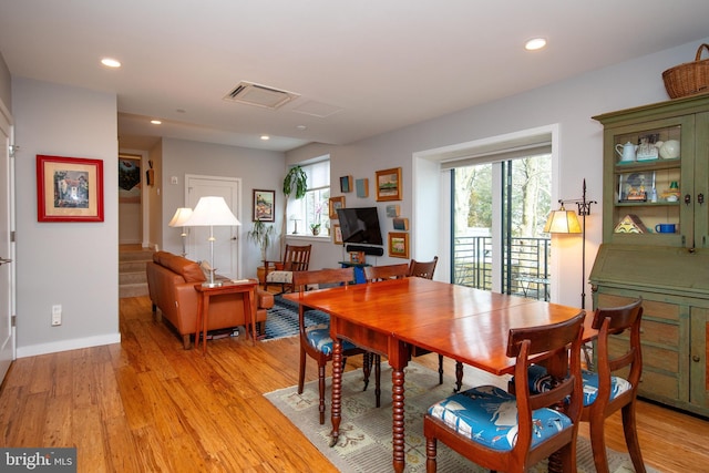
<svg viewBox="0 0 709 473">
<path fill-rule="evenodd" d="M 429 408 L 423 419 L 427 472 L 435 472 L 439 440 L 493 471 L 526 472 L 554 455 L 551 463 L 575 472 L 584 318 L 582 311 L 563 322 L 510 330 L 506 354 L 516 358 L 514 373 L 523 387 L 516 394 L 483 385 Z M 530 359 L 536 356 L 548 357 L 554 367 L 552 387 L 543 393 L 530 392 L 527 383 Z"/>
</svg>

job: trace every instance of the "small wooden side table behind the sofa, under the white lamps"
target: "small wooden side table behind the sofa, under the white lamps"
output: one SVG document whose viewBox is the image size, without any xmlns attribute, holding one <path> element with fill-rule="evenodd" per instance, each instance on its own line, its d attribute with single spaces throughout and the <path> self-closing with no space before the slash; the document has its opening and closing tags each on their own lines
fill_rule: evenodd
<svg viewBox="0 0 709 473">
<path fill-rule="evenodd" d="M 218 287 L 206 287 L 202 284 L 195 285 L 195 290 L 199 292 L 197 305 L 197 327 L 195 329 L 195 348 L 199 347 L 199 333 L 202 333 L 202 352 L 207 352 L 207 321 L 209 318 L 209 298 L 212 296 L 223 296 L 226 294 L 244 294 L 244 325 L 248 337 L 248 320 L 251 325 L 251 345 L 256 345 L 256 286 L 257 279 L 244 279 L 238 282 L 230 280 L 223 281 Z"/>
</svg>

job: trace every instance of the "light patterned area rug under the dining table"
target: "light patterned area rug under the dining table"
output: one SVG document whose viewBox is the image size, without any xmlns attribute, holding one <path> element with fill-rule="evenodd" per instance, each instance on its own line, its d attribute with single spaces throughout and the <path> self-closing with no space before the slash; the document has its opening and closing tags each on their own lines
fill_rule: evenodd
<svg viewBox="0 0 709 473">
<path fill-rule="evenodd" d="M 452 392 L 452 379 L 438 383 L 438 372 L 417 363 L 405 369 L 405 462 L 407 472 L 425 472 L 425 438 L 423 436 L 423 414 L 434 402 Z M 327 380 L 327 418 L 323 425 L 318 423 L 318 384 L 311 381 L 305 385 L 302 394 L 297 387 L 269 392 L 265 397 L 280 410 L 308 440 L 341 472 L 372 473 L 392 471 L 391 445 L 391 368 L 381 373 L 381 408 L 374 407 L 373 387 L 362 391 L 361 370 L 349 371 L 342 377 L 342 422 L 340 436 L 335 448 L 330 440 L 330 385 Z M 594 473 L 590 444 L 578 439 L 578 472 Z M 613 473 L 631 473 L 633 463 L 627 454 L 608 450 L 608 462 Z M 439 442 L 438 471 L 448 472 L 487 472 L 467 461 L 456 452 Z M 533 473 L 547 472 L 546 461 L 535 465 Z M 658 473 L 647 467 L 648 472 Z"/>
</svg>

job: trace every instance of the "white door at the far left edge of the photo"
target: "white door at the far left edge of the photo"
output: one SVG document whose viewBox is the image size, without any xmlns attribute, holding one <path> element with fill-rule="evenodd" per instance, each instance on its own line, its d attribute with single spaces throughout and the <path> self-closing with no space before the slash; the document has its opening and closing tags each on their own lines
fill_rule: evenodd
<svg viewBox="0 0 709 473">
<path fill-rule="evenodd" d="M 0 382 L 14 359 L 14 245 L 10 237 L 13 228 L 14 179 L 10 158 L 10 116 L 0 103 Z"/>
</svg>

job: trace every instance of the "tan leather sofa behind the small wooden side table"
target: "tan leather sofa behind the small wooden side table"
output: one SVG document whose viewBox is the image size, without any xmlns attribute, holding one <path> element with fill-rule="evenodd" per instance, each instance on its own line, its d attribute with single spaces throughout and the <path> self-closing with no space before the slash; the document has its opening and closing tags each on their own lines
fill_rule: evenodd
<svg viewBox="0 0 709 473">
<path fill-rule="evenodd" d="M 155 251 L 153 261 L 145 268 L 147 287 L 156 319 L 161 313 L 182 336 L 185 350 L 192 348 L 189 336 L 196 330 L 198 292 L 195 284 L 206 277 L 196 261 L 167 251 Z M 250 323 L 245 320 L 243 294 L 212 297 L 209 300 L 208 330 L 225 329 Z M 256 321 L 266 322 L 266 309 L 274 307 L 274 296 L 256 289 Z M 156 311 L 160 309 L 160 312 Z M 263 333 L 263 330 L 261 330 Z"/>
</svg>

